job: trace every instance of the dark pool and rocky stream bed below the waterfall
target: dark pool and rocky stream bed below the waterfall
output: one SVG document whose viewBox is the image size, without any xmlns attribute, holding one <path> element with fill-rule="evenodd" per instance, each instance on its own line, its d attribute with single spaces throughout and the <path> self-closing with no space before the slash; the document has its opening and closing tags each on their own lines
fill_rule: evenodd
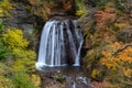
<svg viewBox="0 0 132 88">
<path fill-rule="evenodd" d="M 44 88 L 95 88 L 80 67 L 46 67 L 41 78 Z"/>
</svg>

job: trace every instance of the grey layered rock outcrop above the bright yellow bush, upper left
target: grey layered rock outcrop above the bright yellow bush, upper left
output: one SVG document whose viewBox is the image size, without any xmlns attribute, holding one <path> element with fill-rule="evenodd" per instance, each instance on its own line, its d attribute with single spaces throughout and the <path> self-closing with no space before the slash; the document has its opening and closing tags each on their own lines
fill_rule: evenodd
<svg viewBox="0 0 132 88">
<path fill-rule="evenodd" d="M 21 2 L 13 3 L 15 10 L 10 11 L 11 18 L 3 18 L 7 26 L 18 28 L 24 32 L 32 33 L 36 26 L 36 18 L 28 11 L 26 7 Z"/>
</svg>

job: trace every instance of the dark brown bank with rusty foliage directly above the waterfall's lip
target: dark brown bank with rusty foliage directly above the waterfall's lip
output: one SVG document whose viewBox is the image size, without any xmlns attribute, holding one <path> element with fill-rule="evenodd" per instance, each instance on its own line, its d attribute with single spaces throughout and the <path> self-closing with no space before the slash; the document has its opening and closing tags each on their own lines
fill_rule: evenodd
<svg viewBox="0 0 132 88">
<path fill-rule="evenodd" d="M 75 0 L 28 0 L 31 11 L 43 20 L 53 16 L 75 15 Z"/>
</svg>

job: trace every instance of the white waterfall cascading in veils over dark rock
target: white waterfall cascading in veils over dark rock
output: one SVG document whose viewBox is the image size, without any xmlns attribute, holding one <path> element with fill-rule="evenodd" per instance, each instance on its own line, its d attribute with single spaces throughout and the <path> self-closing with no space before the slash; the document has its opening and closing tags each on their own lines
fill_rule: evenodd
<svg viewBox="0 0 132 88">
<path fill-rule="evenodd" d="M 50 20 L 43 28 L 36 68 L 79 66 L 81 45 L 76 20 Z"/>
</svg>

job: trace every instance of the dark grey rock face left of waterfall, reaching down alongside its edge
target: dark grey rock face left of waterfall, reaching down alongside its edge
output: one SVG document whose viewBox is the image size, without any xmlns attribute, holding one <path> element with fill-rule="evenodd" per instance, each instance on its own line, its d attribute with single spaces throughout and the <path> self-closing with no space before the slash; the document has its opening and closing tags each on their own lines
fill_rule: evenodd
<svg viewBox="0 0 132 88">
<path fill-rule="evenodd" d="M 41 35 L 40 30 L 42 30 L 44 25 L 44 20 L 40 16 L 34 15 L 28 9 L 29 6 L 26 0 L 12 0 L 11 3 L 13 4 L 14 10 L 9 11 L 11 14 L 10 18 L 3 18 L 3 23 L 6 23 L 7 28 L 15 28 L 22 30 L 24 32 L 24 37 L 30 41 L 29 47 L 37 52 L 38 40 Z"/>
</svg>

